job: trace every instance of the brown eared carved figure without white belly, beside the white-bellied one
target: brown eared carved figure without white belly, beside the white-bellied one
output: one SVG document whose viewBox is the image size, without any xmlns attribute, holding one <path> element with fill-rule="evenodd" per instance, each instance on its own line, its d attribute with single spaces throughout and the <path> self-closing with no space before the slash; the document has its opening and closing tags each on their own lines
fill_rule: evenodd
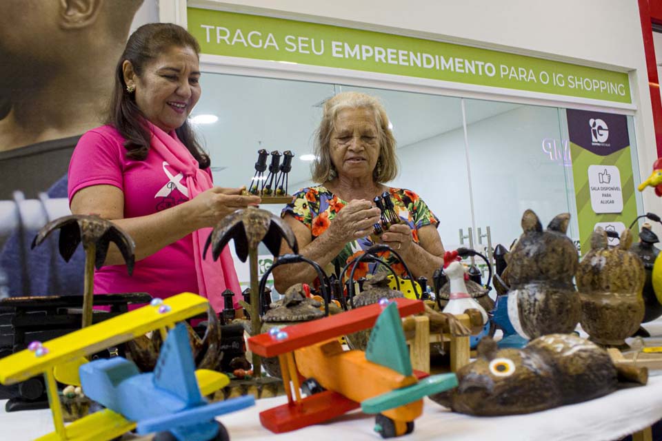
<svg viewBox="0 0 662 441">
<path fill-rule="evenodd" d="M 644 303 L 641 295 L 645 270 L 639 256 L 628 251 L 629 229 L 616 247 L 608 246 L 602 228 L 591 236 L 591 250 L 576 273 L 581 299 L 581 327 L 590 340 L 603 346 L 628 347 L 628 338 L 639 329 Z"/>
</svg>

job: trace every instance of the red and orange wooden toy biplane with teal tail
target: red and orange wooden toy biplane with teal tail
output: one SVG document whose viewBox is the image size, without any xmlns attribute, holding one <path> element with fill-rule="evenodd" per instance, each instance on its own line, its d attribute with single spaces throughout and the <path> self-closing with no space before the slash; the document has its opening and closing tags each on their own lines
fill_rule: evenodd
<svg viewBox="0 0 662 441">
<path fill-rule="evenodd" d="M 428 376 L 412 369 L 400 316 L 421 312 L 420 300 L 383 299 L 249 338 L 252 351 L 279 357 L 288 394 L 286 404 L 260 413 L 262 425 L 274 433 L 287 432 L 361 407 L 377 414 L 374 429 L 383 438 L 413 431 L 423 412 L 422 398 L 457 386 L 454 373 Z M 340 336 L 370 327 L 365 353 L 343 350 Z M 302 380 L 310 391 L 305 398 L 299 391 Z"/>
</svg>

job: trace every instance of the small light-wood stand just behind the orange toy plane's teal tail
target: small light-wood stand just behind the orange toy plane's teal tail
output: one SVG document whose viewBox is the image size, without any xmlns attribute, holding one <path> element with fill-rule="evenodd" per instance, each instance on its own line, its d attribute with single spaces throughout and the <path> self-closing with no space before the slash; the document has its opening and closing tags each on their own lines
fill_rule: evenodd
<svg viewBox="0 0 662 441">
<path fill-rule="evenodd" d="M 459 314 L 456 317 L 463 325 L 471 327 L 467 314 Z M 414 369 L 430 373 L 430 343 L 450 344 L 450 371 L 457 372 L 464 365 L 468 365 L 471 351 L 469 336 L 430 334 L 430 320 L 427 316 L 414 317 L 414 324 L 414 337 L 407 340 Z"/>
</svg>

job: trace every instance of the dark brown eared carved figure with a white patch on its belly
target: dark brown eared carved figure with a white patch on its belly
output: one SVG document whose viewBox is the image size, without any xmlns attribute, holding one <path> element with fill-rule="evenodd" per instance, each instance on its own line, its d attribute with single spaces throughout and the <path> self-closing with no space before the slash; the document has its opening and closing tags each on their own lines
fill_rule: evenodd
<svg viewBox="0 0 662 441">
<path fill-rule="evenodd" d="M 579 256 L 565 235 L 570 214 L 556 216 L 543 231 L 538 216 L 522 216 L 523 234 L 510 252 L 508 316 L 524 338 L 572 332 L 579 322 L 579 296 L 572 278 Z"/>
</svg>

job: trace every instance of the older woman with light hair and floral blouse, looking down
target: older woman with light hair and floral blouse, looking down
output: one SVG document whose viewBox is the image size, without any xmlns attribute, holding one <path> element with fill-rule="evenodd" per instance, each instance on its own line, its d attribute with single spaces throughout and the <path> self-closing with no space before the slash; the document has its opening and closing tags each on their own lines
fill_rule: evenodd
<svg viewBox="0 0 662 441">
<path fill-rule="evenodd" d="M 443 245 L 437 219 L 417 194 L 384 183 L 397 176 L 396 143 L 386 112 L 372 96 L 344 92 L 326 101 L 317 132 L 312 178 L 321 183 L 294 194 L 281 214 L 297 236 L 303 256 L 339 272 L 362 249 L 373 245 L 370 234 L 380 210 L 372 202 L 388 192 L 402 223 L 391 225 L 381 236 L 396 250 L 414 277 L 432 277 L 443 265 Z M 290 252 L 283 245 L 281 252 Z M 381 256 L 400 276 L 397 258 Z M 330 271 L 327 271 L 330 273 Z M 354 277 L 368 272 L 368 265 Z M 274 271 L 276 289 L 297 282 L 312 282 L 313 269 L 303 264 L 282 265 Z"/>
</svg>

